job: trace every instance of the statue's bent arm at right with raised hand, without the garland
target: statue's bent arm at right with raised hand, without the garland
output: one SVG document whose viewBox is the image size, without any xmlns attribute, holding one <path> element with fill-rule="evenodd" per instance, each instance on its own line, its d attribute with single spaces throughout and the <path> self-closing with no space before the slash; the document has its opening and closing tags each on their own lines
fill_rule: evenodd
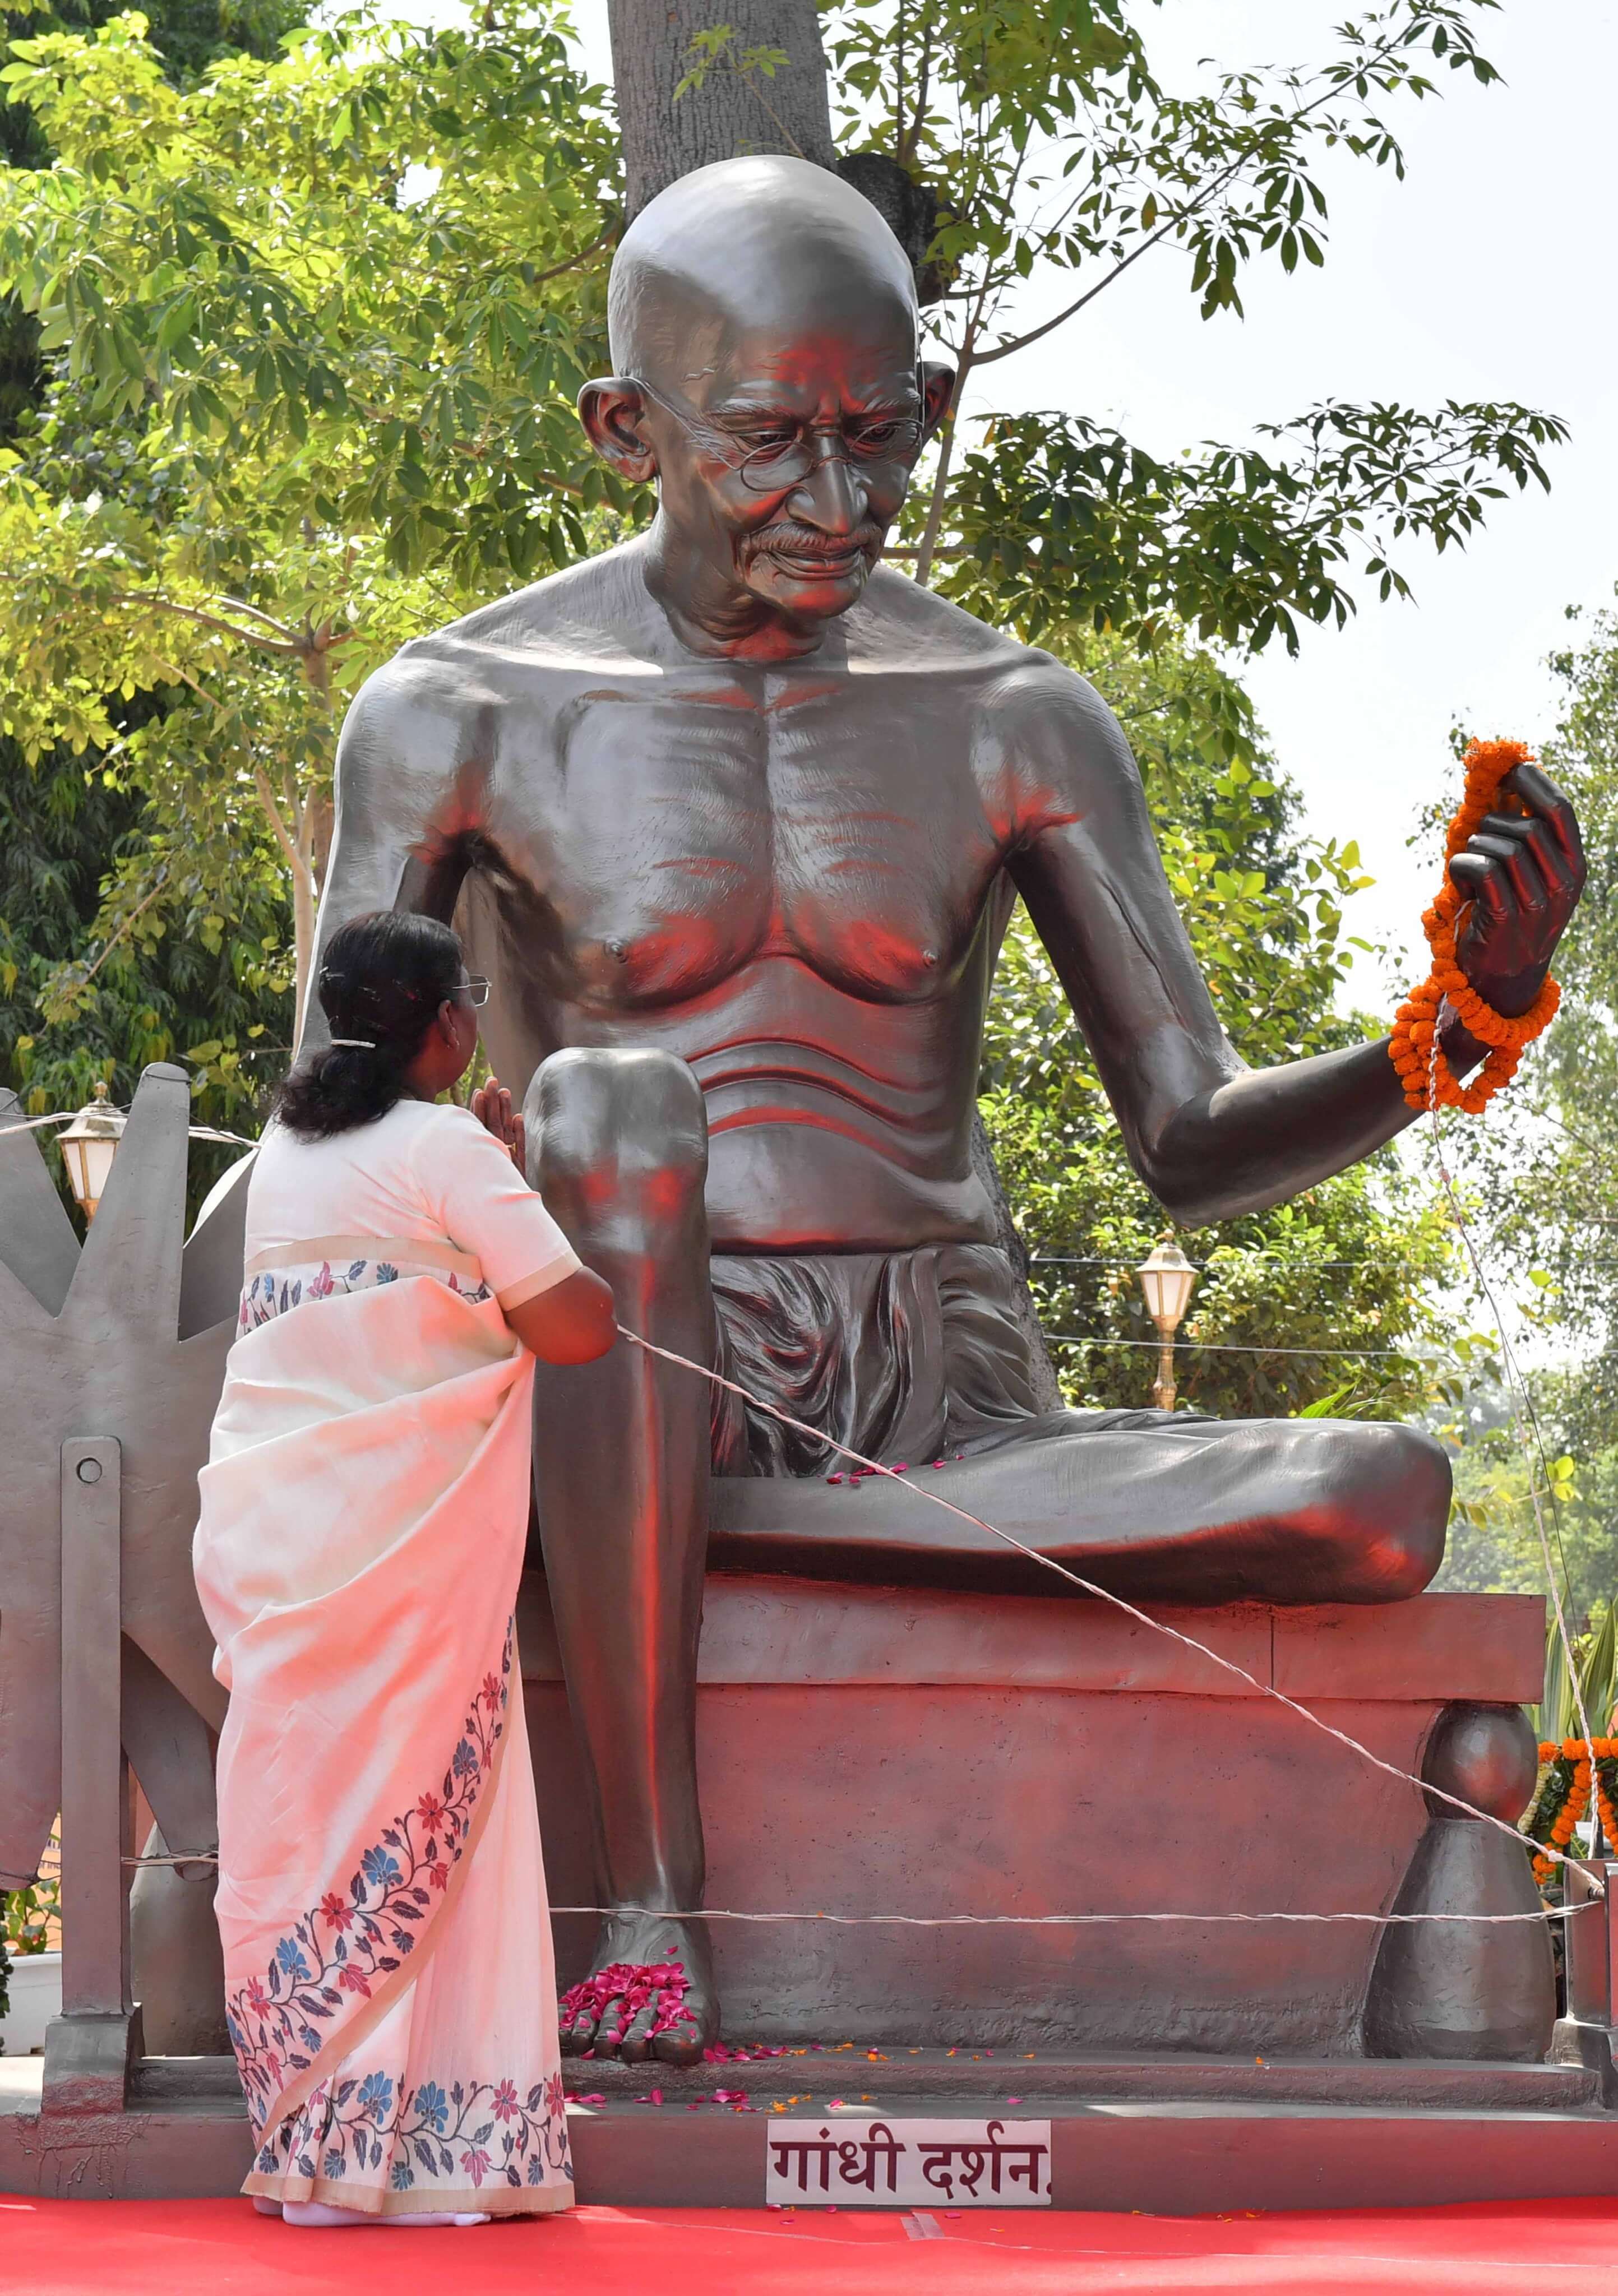
<svg viewBox="0 0 1618 2296">
<path fill-rule="evenodd" d="M 1008 870 L 1028 905 L 1118 1111 L 1129 1157 L 1182 1221 L 1281 1203 L 1414 1120 L 1386 1038 L 1248 1068 L 1221 1029 L 1152 838 L 1141 774 L 1106 703 L 1033 657 L 994 709 L 991 751 L 1014 815 Z M 1584 886 L 1579 827 L 1535 767 L 1455 856 L 1471 895 L 1467 978 L 1526 1013 Z M 1460 1072 L 1483 1047 L 1444 1010 Z"/>
</svg>

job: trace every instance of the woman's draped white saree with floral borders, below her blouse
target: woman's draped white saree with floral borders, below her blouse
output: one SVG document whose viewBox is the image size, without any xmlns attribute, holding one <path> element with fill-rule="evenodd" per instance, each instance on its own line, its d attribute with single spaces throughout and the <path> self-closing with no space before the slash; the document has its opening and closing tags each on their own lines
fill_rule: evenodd
<svg viewBox="0 0 1618 2296">
<path fill-rule="evenodd" d="M 246 2190 L 544 2213 L 571 2165 L 512 1639 L 532 1359 L 438 1258 L 255 1272 L 202 1472 Z"/>
</svg>

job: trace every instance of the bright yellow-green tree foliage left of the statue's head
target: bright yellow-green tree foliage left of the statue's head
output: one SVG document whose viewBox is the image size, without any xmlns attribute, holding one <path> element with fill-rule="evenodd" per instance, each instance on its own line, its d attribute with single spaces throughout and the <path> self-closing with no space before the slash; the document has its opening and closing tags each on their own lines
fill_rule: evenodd
<svg viewBox="0 0 1618 2296">
<path fill-rule="evenodd" d="M 129 14 L 0 78 L 55 154 L 0 174 L 0 285 L 53 363 L 0 455 L 5 732 L 147 799 L 103 944 L 223 909 L 273 840 L 301 994 L 353 687 L 624 503 L 571 413 L 604 354 L 599 92 L 549 11 L 496 7 L 347 16 L 181 87 Z M 158 707 L 124 730 L 133 696 Z"/>
</svg>

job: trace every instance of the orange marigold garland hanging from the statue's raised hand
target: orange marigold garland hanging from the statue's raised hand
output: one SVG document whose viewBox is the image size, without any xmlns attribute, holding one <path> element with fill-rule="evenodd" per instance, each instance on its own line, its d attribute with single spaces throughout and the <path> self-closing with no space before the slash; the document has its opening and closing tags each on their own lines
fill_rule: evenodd
<svg viewBox="0 0 1618 2296">
<path fill-rule="evenodd" d="M 1517 1075 L 1524 1049 L 1549 1026 L 1561 1003 L 1563 992 L 1547 978 L 1528 1010 L 1508 1019 L 1506 1013 L 1496 1013 L 1478 996 L 1455 955 L 1455 928 L 1471 895 L 1455 884 L 1448 863 L 1480 827 L 1485 813 L 1512 804 L 1512 799 L 1501 797 L 1501 781 L 1526 762 L 1528 751 L 1522 742 L 1473 742 L 1464 758 L 1467 794 L 1444 843 L 1444 884 L 1421 918 L 1432 951 L 1432 971 L 1400 1006 L 1388 1042 L 1388 1056 L 1400 1072 L 1411 1109 L 1467 1109 L 1471 1116 L 1480 1116 L 1501 1086 Z M 1434 1052 L 1439 1006 L 1446 996 L 1462 1024 L 1480 1045 L 1489 1047 L 1471 1084 L 1460 1084 L 1444 1054 Z"/>
</svg>

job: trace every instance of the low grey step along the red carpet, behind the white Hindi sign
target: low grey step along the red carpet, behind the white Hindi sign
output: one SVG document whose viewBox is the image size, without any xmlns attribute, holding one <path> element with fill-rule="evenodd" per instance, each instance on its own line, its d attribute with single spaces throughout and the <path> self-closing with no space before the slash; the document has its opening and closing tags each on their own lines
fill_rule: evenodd
<svg viewBox="0 0 1618 2296">
<path fill-rule="evenodd" d="M 778 2062 L 778 2060 L 767 2060 Z M 872 2060 L 865 2060 L 870 2066 Z M 1035 2060 L 1037 2062 L 1037 2060 Z M 1097 2062 L 1083 2066 L 1095 2087 Z M 202 2082 L 223 2089 L 223 2060 L 156 2060 L 142 2069 L 147 2101 L 117 2117 L 78 2119 L 39 2115 L 41 2060 L 0 2060 L 0 2193 L 39 2193 L 80 2200 L 204 2197 L 241 2190 L 252 2144 L 241 2103 L 200 2094 Z M 971 2064 L 971 2060 L 969 2060 Z M 1069 2060 L 1072 2064 L 1072 2060 Z M 207 2071 L 202 2069 L 207 2066 Z M 1049 2060 L 1047 2060 L 1049 2066 Z M 1180 2076 L 1182 2064 L 1170 2060 Z M 1161 2076 L 1170 2066 L 1154 2066 Z M 1129 2071 L 1138 2071 L 1138 2060 Z M 574 2060 L 574 2073 L 590 2062 Z M 771 2131 L 787 2119 L 840 2126 L 849 2135 L 881 2115 L 904 2119 L 1019 2119 L 1051 2124 L 1051 2183 L 1058 2209 L 1141 2209 L 1159 2216 L 1214 2209 L 1393 2209 L 1457 2200 L 1526 2200 L 1556 2195 L 1618 2193 L 1618 2115 L 1590 2103 L 1588 2082 L 1558 2066 L 1494 2066 L 1506 2085 L 1517 2085 L 1515 2108 L 1434 2103 L 1434 2085 L 1421 2087 L 1421 2103 L 1322 2103 L 1209 2096 L 1076 2096 L 1035 2094 L 1028 2060 L 1017 2087 L 985 2082 L 980 2060 L 971 2073 L 975 2094 L 893 2089 L 861 2094 L 840 2078 L 835 2089 L 812 2080 L 815 2096 L 748 2092 L 746 2108 L 698 2103 L 675 2094 L 677 2076 L 645 2082 L 636 2096 L 624 2069 L 599 2066 L 599 2085 L 583 2094 L 608 2103 L 569 2105 L 569 2135 L 578 2172 L 578 2200 L 604 2206 L 705 2206 L 757 2209 Z M 714 2087 L 739 2089 L 748 2066 L 723 2069 Z M 847 2057 L 840 2073 L 851 2073 Z M 994 2060 L 1001 2071 L 1001 2060 Z M 1230 2069 L 1226 2069 L 1230 2071 Z M 1253 2066 L 1251 2071 L 1260 2071 Z M 1315 2078 L 1324 2066 L 1310 2069 Z M 1336 2071 L 1349 2071 L 1338 2066 Z M 1377 2066 L 1384 2076 L 1428 2076 L 1432 2066 Z M 1439 2066 L 1444 2076 L 1478 2066 Z M 1551 2073 L 1547 2087 L 1538 2076 Z M 861 2069 L 861 2080 L 868 2073 Z M 874 2076 L 881 2078 L 881 2076 Z M 156 2099 L 158 2087 L 188 2094 Z M 569 2078 L 571 2085 L 571 2078 Z M 659 2087 L 663 2103 L 652 2105 Z M 1496 2092 L 1496 2094 L 1503 2094 Z M 833 2105 L 833 2096 L 842 2103 Z M 1008 2099 L 1021 2105 L 1008 2115 Z M 1533 2101 L 1528 2101 L 1533 2099 Z M 778 2110 L 783 2108 L 783 2110 Z M 847 2204 L 847 2202 L 845 2202 Z"/>
</svg>

